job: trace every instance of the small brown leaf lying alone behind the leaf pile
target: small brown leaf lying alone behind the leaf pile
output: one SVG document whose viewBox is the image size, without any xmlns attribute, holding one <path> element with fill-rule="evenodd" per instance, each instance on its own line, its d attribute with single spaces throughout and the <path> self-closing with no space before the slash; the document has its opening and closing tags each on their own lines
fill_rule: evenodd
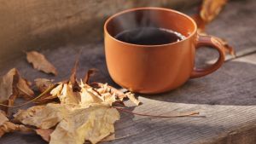
<svg viewBox="0 0 256 144">
<path fill-rule="evenodd" d="M 53 66 L 48 60 L 46 60 L 44 55 L 38 53 L 37 51 L 26 52 L 26 60 L 29 63 L 32 63 L 32 66 L 39 71 L 57 75 L 57 70 L 55 66 Z"/>
</svg>

